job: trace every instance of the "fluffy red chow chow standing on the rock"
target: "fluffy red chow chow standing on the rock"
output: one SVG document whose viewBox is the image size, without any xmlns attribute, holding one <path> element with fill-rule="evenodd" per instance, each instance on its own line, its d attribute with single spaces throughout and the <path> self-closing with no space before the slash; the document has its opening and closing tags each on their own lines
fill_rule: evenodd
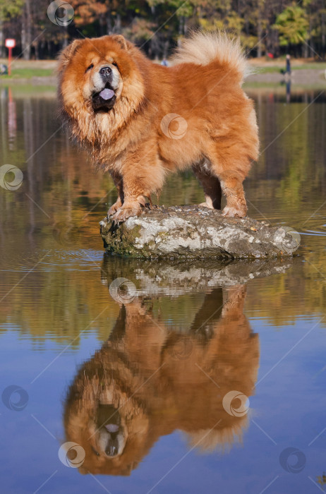
<svg viewBox="0 0 326 494">
<path fill-rule="evenodd" d="M 258 157 L 253 101 L 241 88 L 239 40 L 196 32 L 172 66 L 153 63 L 121 35 L 73 41 L 59 57 L 59 100 L 74 136 L 109 171 L 119 197 L 108 216 L 139 215 L 171 171 L 192 167 L 203 206 L 246 216 L 243 179 Z"/>
</svg>

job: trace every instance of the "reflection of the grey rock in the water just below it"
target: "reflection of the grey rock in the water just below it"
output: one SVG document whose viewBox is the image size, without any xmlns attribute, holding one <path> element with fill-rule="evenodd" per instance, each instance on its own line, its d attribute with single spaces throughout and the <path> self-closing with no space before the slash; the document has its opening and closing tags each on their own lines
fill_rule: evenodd
<svg viewBox="0 0 326 494">
<path fill-rule="evenodd" d="M 179 296 L 215 287 L 243 284 L 256 277 L 285 272 L 293 260 L 194 260 L 191 263 L 150 262 L 104 255 L 102 282 L 123 277 L 135 284 L 138 295 Z"/>
</svg>

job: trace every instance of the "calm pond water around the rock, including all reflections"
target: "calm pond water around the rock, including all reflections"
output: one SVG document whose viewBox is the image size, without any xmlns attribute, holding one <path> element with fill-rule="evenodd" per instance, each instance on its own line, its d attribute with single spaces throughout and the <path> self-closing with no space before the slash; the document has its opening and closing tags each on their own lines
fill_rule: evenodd
<svg viewBox="0 0 326 494">
<path fill-rule="evenodd" d="M 23 171 L 0 188 L 2 492 L 326 491 L 326 99 L 283 91 L 248 90 L 246 195 L 300 255 L 176 265 L 104 255 L 111 179 L 52 90 L 0 90 L 0 164 Z M 161 203 L 202 200 L 183 174 Z"/>
</svg>

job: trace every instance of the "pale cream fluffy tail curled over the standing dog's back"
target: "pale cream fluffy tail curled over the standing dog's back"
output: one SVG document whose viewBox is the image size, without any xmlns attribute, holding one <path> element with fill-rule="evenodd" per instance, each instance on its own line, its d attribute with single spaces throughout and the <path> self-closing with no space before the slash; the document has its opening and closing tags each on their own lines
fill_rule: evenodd
<svg viewBox="0 0 326 494">
<path fill-rule="evenodd" d="M 217 62 L 238 72 L 241 81 L 253 73 L 253 68 L 243 54 L 239 38 L 230 38 L 224 32 L 193 32 L 176 50 L 173 61 L 176 64 L 198 65 Z"/>
</svg>

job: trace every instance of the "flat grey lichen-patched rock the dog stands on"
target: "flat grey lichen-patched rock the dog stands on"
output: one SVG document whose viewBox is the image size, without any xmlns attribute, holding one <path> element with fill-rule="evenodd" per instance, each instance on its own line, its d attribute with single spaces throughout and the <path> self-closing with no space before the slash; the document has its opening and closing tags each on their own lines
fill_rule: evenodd
<svg viewBox="0 0 326 494">
<path fill-rule="evenodd" d="M 99 224 L 107 252 L 133 258 L 276 258 L 293 255 L 300 241 L 288 227 L 200 206 L 152 207 L 123 223 Z"/>
</svg>

